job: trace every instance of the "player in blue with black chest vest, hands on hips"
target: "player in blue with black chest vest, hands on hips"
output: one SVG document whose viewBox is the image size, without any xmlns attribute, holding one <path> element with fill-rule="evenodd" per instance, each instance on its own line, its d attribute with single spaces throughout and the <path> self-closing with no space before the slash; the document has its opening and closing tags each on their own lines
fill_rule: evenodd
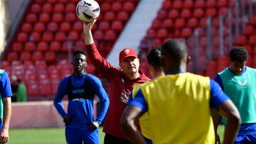
<svg viewBox="0 0 256 144">
<path fill-rule="evenodd" d="M 83 50 L 73 53 L 73 74 L 65 77 L 58 85 L 54 99 L 54 106 L 65 123 L 65 137 L 67 143 L 99 144 L 98 127 L 102 123 L 110 101 L 100 79 L 85 72 L 87 66 L 86 54 Z M 62 99 L 68 95 L 68 113 L 63 108 Z M 93 115 L 93 98 L 100 99 L 100 112 L 97 118 Z"/>
</svg>

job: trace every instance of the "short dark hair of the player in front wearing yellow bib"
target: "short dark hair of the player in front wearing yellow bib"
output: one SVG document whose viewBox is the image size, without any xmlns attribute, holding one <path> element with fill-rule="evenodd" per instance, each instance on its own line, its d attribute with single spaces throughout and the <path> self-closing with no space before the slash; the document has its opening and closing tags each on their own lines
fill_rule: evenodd
<svg viewBox="0 0 256 144">
<path fill-rule="evenodd" d="M 181 60 L 188 55 L 185 43 L 178 39 L 166 40 L 162 46 L 162 55 L 169 55 L 174 60 Z"/>
</svg>

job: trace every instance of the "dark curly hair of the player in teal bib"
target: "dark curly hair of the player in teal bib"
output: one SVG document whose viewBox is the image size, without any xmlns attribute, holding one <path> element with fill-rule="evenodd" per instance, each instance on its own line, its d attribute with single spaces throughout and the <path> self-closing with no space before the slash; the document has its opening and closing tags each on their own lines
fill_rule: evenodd
<svg viewBox="0 0 256 144">
<path fill-rule="evenodd" d="M 237 46 L 230 50 L 230 60 L 233 62 L 244 62 L 248 58 L 248 52 L 245 48 Z"/>
</svg>

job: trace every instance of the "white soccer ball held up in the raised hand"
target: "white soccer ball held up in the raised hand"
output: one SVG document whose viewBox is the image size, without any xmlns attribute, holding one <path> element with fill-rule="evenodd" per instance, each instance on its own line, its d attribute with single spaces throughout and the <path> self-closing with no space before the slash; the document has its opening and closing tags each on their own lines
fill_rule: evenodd
<svg viewBox="0 0 256 144">
<path fill-rule="evenodd" d="M 95 0 L 80 0 L 76 7 L 76 14 L 81 21 L 90 22 L 100 15 L 100 6 Z"/>
</svg>

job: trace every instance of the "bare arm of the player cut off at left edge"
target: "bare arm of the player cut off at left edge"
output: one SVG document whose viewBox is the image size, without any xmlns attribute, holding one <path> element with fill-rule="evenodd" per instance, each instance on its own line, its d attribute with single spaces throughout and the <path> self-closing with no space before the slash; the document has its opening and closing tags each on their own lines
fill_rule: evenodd
<svg viewBox="0 0 256 144">
<path fill-rule="evenodd" d="M 7 143 L 9 141 L 10 120 L 11 120 L 11 97 L 6 97 L 4 98 L 4 125 L 0 135 L 1 143 Z"/>
</svg>

